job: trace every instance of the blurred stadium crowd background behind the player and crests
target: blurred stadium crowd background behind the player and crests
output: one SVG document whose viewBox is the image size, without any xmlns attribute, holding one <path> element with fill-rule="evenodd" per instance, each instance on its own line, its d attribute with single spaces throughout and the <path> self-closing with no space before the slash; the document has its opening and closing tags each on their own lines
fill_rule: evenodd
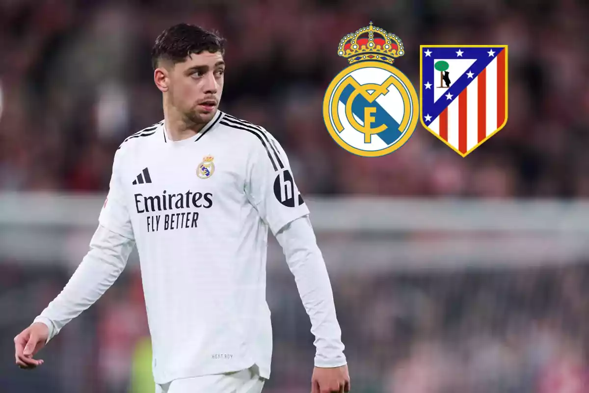
<svg viewBox="0 0 589 393">
<path fill-rule="evenodd" d="M 466 158 L 421 125 L 357 157 L 326 131 L 343 35 L 508 44 L 507 126 Z M 221 110 L 267 128 L 306 195 L 354 392 L 589 392 L 589 6 L 575 0 L 0 0 L 0 392 L 153 392 L 137 254 L 43 349 L 14 336 L 88 249 L 123 139 L 163 118 L 150 49 L 189 22 L 227 38 Z M 310 323 L 272 239 L 264 392 L 309 391 Z"/>
</svg>

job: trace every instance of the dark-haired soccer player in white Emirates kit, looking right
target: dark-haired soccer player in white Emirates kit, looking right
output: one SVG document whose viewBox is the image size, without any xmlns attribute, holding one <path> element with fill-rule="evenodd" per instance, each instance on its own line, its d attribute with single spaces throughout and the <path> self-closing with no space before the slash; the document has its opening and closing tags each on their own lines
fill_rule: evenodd
<svg viewBox="0 0 589 393">
<path fill-rule="evenodd" d="M 164 120 L 121 143 L 90 250 L 15 337 L 35 368 L 51 338 L 110 288 L 136 245 L 158 393 L 258 393 L 270 377 L 268 229 L 282 246 L 315 335 L 313 392 L 350 379 L 325 262 L 289 160 L 263 127 L 219 110 L 224 39 L 175 25 L 155 41 Z"/>
</svg>

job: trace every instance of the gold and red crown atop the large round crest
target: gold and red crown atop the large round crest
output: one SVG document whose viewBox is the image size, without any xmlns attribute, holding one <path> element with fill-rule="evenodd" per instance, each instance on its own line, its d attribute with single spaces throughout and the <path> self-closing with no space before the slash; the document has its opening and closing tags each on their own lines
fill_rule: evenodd
<svg viewBox="0 0 589 393">
<path fill-rule="evenodd" d="M 399 37 L 385 29 L 374 27 L 370 22 L 369 26 L 343 37 L 337 54 L 347 58 L 350 64 L 366 60 L 392 64 L 395 58 L 405 54 L 405 50 Z"/>
</svg>

